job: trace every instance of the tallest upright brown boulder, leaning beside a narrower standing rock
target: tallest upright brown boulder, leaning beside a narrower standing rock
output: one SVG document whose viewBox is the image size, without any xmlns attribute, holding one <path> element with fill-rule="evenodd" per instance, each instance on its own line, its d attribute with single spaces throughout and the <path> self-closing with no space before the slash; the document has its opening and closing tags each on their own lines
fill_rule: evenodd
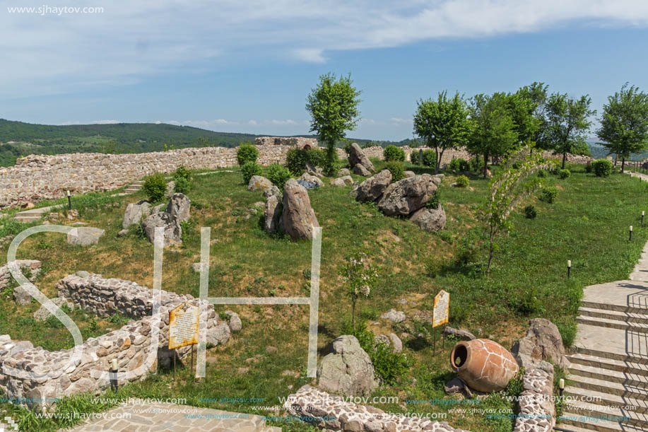
<svg viewBox="0 0 648 432">
<path fill-rule="evenodd" d="M 283 187 L 281 228 L 294 239 L 310 240 L 313 227 L 319 226 L 305 187 L 291 178 Z"/>
</svg>

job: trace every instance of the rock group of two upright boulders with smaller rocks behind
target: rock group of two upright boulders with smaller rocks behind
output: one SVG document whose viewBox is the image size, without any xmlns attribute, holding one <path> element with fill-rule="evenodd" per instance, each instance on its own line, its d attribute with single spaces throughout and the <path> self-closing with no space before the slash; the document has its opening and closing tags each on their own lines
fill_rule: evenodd
<svg viewBox="0 0 648 432">
<path fill-rule="evenodd" d="M 300 179 L 291 178 L 285 182 L 283 193 L 266 177 L 254 175 L 249 180 L 247 190 L 264 192 L 266 232 L 285 233 L 293 239 L 312 239 L 313 227 L 319 226 L 319 222 L 310 205 L 308 191 L 300 182 L 310 182 L 319 187 L 322 180 L 310 174 L 302 175 Z"/>
</svg>

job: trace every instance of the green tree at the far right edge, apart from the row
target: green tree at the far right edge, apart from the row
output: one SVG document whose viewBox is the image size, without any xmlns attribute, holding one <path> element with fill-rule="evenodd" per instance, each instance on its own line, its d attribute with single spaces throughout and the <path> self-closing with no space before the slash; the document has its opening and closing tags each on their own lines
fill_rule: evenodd
<svg viewBox="0 0 648 432">
<path fill-rule="evenodd" d="M 625 159 L 648 147 L 648 95 L 635 86 L 623 84 L 620 92 L 608 96 L 603 105 L 601 127 L 596 134 L 610 153 L 621 158 L 621 172 Z"/>
</svg>

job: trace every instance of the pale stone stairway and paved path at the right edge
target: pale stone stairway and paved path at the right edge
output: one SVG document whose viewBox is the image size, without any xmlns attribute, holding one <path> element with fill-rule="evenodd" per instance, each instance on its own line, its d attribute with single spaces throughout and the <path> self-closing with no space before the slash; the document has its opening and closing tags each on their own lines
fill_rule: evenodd
<svg viewBox="0 0 648 432">
<path fill-rule="evenodd" d="M 561 427 L 648 431 L 648 243 L 627 281 L 584 289 L 579 313 Z"/>
</svg>

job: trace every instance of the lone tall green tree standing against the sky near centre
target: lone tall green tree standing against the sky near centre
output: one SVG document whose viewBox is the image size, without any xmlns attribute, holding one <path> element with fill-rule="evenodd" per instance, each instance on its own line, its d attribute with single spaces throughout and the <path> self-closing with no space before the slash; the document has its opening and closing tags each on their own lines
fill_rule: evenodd
<svg viewBox="0 0 648 432">
<path fill-rule="evenodd" d="M 324 170 L 329 175 L 335 171 L 336 142 L 358 124 L 360 93 L 353 87 L 350 74 L 336 78 L 329 73 L 319 77 L 319 84 L 308 95 L 306 110 L 311 117 L 310 132 L 315 132 L 319 141 L 326 144 Z"/>
</svg>

